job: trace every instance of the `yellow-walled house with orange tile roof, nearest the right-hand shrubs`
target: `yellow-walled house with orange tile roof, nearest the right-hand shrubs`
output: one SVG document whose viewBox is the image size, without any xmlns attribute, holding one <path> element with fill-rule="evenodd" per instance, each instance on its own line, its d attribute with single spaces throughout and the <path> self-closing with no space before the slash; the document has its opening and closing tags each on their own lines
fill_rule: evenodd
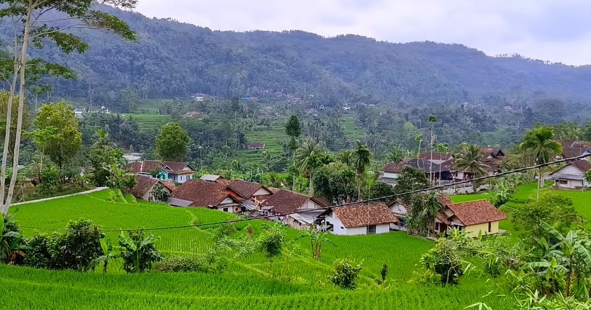
<svg viewBox="0 0 591 310">
<path fill-rule="evenodd" d="M 499 222 L 507 218 L 488 200 L 453 203 L 445 195 L 443 197 L 440 195 L 438 200 L 445 209 L 435 218 L 437 233 L 459 229 L 466 231 L 467 236 L 470 237 L 476 237 L 478 234 L 497 234 Z"/>
</svg>

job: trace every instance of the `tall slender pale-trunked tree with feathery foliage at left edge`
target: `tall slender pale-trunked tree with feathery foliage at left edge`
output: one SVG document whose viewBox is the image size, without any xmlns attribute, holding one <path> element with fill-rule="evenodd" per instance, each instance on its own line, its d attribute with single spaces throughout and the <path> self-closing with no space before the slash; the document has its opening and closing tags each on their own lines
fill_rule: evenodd
<svg viewBox="0 0 591 310">
<path fill-rule="evenodd" d="M 99 0 L 98 2 L 131 9 L 135 7 L 137 0 Z M 12 156 L 12 177 L 6 201 L 0 210 L 3 214 L 8 213 L 17 181 L 25 89 L 27 86 L 25 78 L 30 76 L 30 73 L 63 76 L 69 71 L 62 66 L 47 63 L 44 60 L 28 58 L 28 54 L 30 54 L 29 45 L 43 48 L 44 41 L 51 41 L 66 54 L 73 51 L 83 53 L 89 48 L 89 45 L 82 38 L 68 32 L 70 29 L 79 28 L 106 29 L 128 40 L 135 40 L 135 32 L 131 31 L 125 22 L 110 14 L 93 9 L 95 3 L 95 0 L 0 0 L 2 5 L 0 17 L 4 17 L 3 20 L 7 23 L 9 21 L 14 23 L 14 54 L 12 61 L 8 62 L 12 63 L 12 69 L 10 70 L 12 73 L 5 74 L 6 80 L 11 81 L 8 99 L 9 111 L 12 111 L 12 99 L 17 93 L 18 86 L 18 115 L 17 127 L 15 128 L 14 156 Z M 57 13 L 62 15 L 58 18 L 50 17 L 47 16 L 48 12 L 49 14 Z M 71 71 L 69 72 L 71 73 Z M 6 137 L 11 135 L 11 120 L 11 113 L 7 113 L 5 141 L 7 141 Z M 5 145 L 7 144 L 5 143 Z M 2 180 L 0 192 L 2 192 L 3 197 L 6 166 L 7 163 L 4 158 L 2 160 L 2 176 L 0 177 Z"/>
</svg>

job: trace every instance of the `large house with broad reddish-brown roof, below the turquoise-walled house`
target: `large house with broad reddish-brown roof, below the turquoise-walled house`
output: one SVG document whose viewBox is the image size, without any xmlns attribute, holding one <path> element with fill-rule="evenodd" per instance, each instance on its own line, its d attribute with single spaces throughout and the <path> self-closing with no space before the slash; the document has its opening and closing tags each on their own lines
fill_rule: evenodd
<svg viewBox="0 0 591 310">
<path fill-rule="evenodd" d="M 189 180 L 177 187 L 167 202 L 177 207 L 205 207 L 228 213 L 240 213 L 245 199 L 246 197 L 242 197 L 226 184 Z"/>
</svg>

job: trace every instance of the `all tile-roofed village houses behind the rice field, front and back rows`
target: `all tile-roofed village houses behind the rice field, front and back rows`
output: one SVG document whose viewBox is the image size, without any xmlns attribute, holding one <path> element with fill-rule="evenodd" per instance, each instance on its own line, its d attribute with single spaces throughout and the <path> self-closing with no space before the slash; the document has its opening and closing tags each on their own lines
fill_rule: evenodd
<svg viewBox="0 0 591 310">
<path fill-rule="evenodd" d="M 561 142 L 562 154 L 557 158 L 572 158 L 591 154 L 589 142 Z M 501 149 L 483 148 L 483 163 L 487 175 L 501 172 L 500 163 L 505 157 Z M 426 175 L 431 185 L 453 184 L 470 181 L 475 173 L 457 168 L 456 156 L 451 152 L 421 152 L 417 158 L 405 158 L 389 162 L 380 171 L 379 182 L 395 186 L 405 167 L 418 169 Z M 201 175 L 187 162 L 134 161 L 123 167 L 137 174 L 138 184 L 129 189 L 135 197 L 153 201 L 155 190 L 164 191 L 165 203 L 174 207 L 205 207 L 228 213 L 238 213 L 250 218 L 278 221 L 296 230 L 320 230 L 333 234 L 379 234 L 389 231 L 407 231 L 407 213 L 411 205 L 404 200 L 385 200 L 379 203 L 349 203 L 339 206 L 325 197 L 310 197 L 288 189 L 268 188 L 256 182 L 227 180 L 220 175 Z M 564 167 L 546 175 L 557 188 L 586 188 L 585 174 L 591 169 L 584 159 L 567 162 Z M 153 175 L 153 176 L 152 176 Z M 471 192 L 472 184 L 466 182 L 462 192 Z M 480 190 L 486 190 L 480 185 Z M 458 188 L 445 190 L 456 194 Z M 488 200 L 453 203 L 441 192 L 437 200 L 443 211 L 433 219 L 433 236 L 448 234 L 453 229 L 466 231 L 469 236 L 503 233 L 499 222 L 506 216 Z M 310 211 L 306 211 L 310 210 Z"/>
</svg>

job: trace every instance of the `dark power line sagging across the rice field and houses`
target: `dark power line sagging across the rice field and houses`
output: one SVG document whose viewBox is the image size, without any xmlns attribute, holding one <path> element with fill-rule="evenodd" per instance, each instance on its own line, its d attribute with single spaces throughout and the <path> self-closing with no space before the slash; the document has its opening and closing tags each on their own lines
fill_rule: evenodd
<svg viewBox="0 0 591 310">
<path fill-rule="evenodd" d="M 288 216 L 290 214 L 308 213 L 310 211 L 327 210 L 329 208 L 335 208 L 335 207 L 346 207 L 348 205 L 358 205 L 358 204 L 364 204 L 364 203 L 374 203 L 376 201 L 382 201 L 382 200 L 392 200 L 393 198 L 398 198 L 398 197 L 402 197 L 405 195 L 418 194 L 420 192 L 427 192 L 427 191 L 441 190 L 443 188 L 454 187 L 455 185 L 467 184 L 469 182 L 488 180 L 489 178 L 499 178 L 499 177 L 503 177 L 504 175 L 515 174 L 515 173 L 519 173 L 519 172 L 523 172 L 523 171 L 527 171 L 527 170 L 531 170 L 531 169 L 543 168 L 543 167 L 547 167 L 547 166 L 554 165 L 554 164 L 560 164 L 561 162 L 583 159 L 588 156 L 591 156 L 591 154 L 583 154 L 583 155 L 574 156 L 571 158 L 557 159 L 556 161 L 547 162 L 545 164 L 538 164 L 538 165 L 534 165 L 534 166 L 530 166 L 530 167 L 518 168 L 518 169 L 511 170 L 511 171 L 499 172 L 498 174 L 494 174 L 494 175 L 486 175 L 484 177 L 473 178 L 472 180 L 465 180 L 465 181 L 453 182 L 453 183 L 449 183 L 449 184 L 442 184 L 442 185 L 437 185 L 434 187 L 422 188 L 420 190 L 402 192 L 400 194 L 393 194 L 393 195 L 387 195 L 387 196 L 382 196 L 382 197 L 378 197 L 378 198 L 359 200 L 359 201 L 355 201 L 353 203 L 342 203 L 342 204 L 330 205 L 327 207 L 296 210 L 296 211 L 291 211 L 291 212 L 286 212 L 286 213 L 273 214 L 273 215 L 269 215 L 269 216 L 252 217 L 252 218 L 238 218 L 236 220 L 217 221 L 217 222 L 212 222 L 212 223 L 190 224 L 190 225 L 181 225 L 181 226 L 152 227 L 152 228 L 144 228 L 144 229 L 118 229 L 118 230 L 106 229 L 106 230 L 100 230 L 100 231 L 105 232 L 105 233 L 109 233 L 109 232 L 119 232 L 119 231 L 139 231 L 139 230 L 151 231 L 151 230 L 183 229 L 183 228 L 189 228 L 189 227 L 213 226 L 213 225 L 221 225 L 221 224 L 233 224 L 233 223 L 239 223 L 239 222 L 243 222 L 243 221 L 264 220 L 267 218 Z M 77 230 L 76 229 L 54 229 L 54 228 L 33 227 L 33 226 L 20 226 L 20 227 L 27 228 L 27 229 L 51 230 L 51 231 L 88 231 L 87 229 L 77 229 Z"/>
</svg>

